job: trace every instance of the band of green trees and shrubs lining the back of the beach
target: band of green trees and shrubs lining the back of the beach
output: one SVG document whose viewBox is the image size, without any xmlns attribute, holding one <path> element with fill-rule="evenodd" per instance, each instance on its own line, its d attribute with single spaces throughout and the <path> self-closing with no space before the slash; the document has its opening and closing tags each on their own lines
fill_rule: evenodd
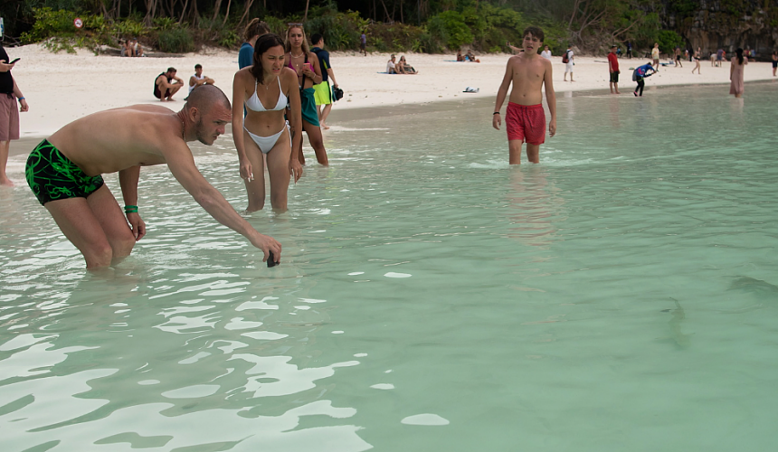
<svg viewBox="0 0 778 452">
<path fill-rule="evenodd" d="M 479 52 L 505 51 L 519 42 L 528 24 L 546 31 L 558 52 L 567 42 L 601 52 L 612 42 L 637 46 L 668 39 L 663 24 L 674 17 L 682 35 L 701 11 L 707 21 L 732 27 L 753 14 L 778 24 L 774 0 L 0 0 L 5 42 L 52 42 L 96 46 L 138 37 L 146 47 L 194 50 L 202 44 L 236 47 L 252 17 L 284 33 L 289 22 L 305 22 L 331 50 L 356 50 L 359 35 L 368 49 L 444 52 L 469 46 Z M 75 31 L 72 18 L 87 25 Z M 756 19 L 754 19 L 756 20 Z M 182 31 L 183 30 L 183 31 Z M 186 40 L 189 43 L 185 43 Z"/>
</svg>

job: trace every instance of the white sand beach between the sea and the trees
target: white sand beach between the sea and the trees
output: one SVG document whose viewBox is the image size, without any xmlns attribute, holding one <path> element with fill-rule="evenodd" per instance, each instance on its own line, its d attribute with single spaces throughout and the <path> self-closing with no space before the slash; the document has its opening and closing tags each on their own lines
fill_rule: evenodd
<svg viewBox="0 0 778 452">
<path fill-rule="evenodd" d="M 160 72 L 172 66 L 178 77 L 188 82 L 194 64 L 204 66 L 204 74 L 232 99 L 232 76 L 238 69 L 237 52 L 204 50 L 170 58 L 119 58 L 79 51 L 76 54 L 52 53 L 38 44 L 7 48 L 9 56 L 21 61 L 14 67 L 14 79 L 30 105 L 22 114 L 22 137 L 45 137 L 73 119 L 107 108 L 160 102 L 152 95 L 153 82 Z M 397 55 L 398 58 L 400 54 Z M 337 124 L 337 112 L 344 108 L 379 108 L 387 105 L 426 103 L 464 97 L 493 98 L 502 80 L 510 55 L 479 55 L 480 63 L 457 62 L 454 55 L 406 53 L 418 75 L 382 73 L 389 54 L 363 56 L 356 52 L 333 52 L 331 61 L 336 80 L 345 97 L 338 101 L 329 123 Z M 565 65 L 561 56 L 553 57 L 554 88 L 557 92 L 608 89 L 608 67 L 605 57 L 576 57 L 574 82 L 563 81 Z M 621 59 L 621 96 L 632 97 L 634 82 L 630 68 L 648 59 Z M 702 74 L 692 74 L 693 63 L 683 68 L 666 66 L 647 80 L 646 86 L 729 83 L 729 62 L 711 67 L 702 61 Z M 767 62 L 752 62 L 745 69 L 745 80 L 774 80 Z M 466 87 L 478 93 L 464 93 Z M 722 86 L 722 95 L 728 87 Z M 165 102 L 177 110 L 184 105 L 185 89 L 176 101 Z M 748 97 L 748 89 L 745 89 Z M 12 145 L 13 146 L 13 145 Z"/>
</svg>

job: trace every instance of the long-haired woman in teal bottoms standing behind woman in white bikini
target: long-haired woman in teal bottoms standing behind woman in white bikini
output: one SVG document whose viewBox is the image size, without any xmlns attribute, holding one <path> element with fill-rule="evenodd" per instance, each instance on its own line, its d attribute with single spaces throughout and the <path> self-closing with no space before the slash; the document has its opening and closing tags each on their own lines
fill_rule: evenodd
<svg viewBox="0 0 778 452">
<path fill-rule="evenodd" d="M 286 65 L 297 73 L 299 83 L 300 112 L 302 114 L 302 129 L 294 125 L 294 133 L 299 134 L 305 130 L 308 134 L 308 142 L 316 153 L 316 159 L 321 165 L 329 165 L 327 150 L 324 148 L 324 140 L 321 138 L 321 127 L 318 122 L 316 99 L 314 99 L 313 85 L 321 83 L 321 69 L 318 67 L 316 53 L 308 50 L 308 41 L 305 38 L 305 30 L 302 24 L 289 24 L 287 39 L 284 45 L 287 52 Z M 299 163 L 305 165 L 305 155 L 302 154 L 302 140 L 297 149 Z"/>
</svg>

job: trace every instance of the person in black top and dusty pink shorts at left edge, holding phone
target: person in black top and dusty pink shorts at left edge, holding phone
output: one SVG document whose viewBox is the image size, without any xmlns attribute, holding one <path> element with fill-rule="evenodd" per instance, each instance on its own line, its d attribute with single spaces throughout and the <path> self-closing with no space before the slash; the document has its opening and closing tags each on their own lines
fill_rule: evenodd
<svg viewBox="0 0 778 452">
<path fill-rule="evenodd" d="M 0 186 L 13 187 L 14 183 L 5 174 L 8 154 L 11 152 L 11 140 L 19 139 L 19 112 L 30 109 L 22 90 L 11 75 L 15 62 L 11 62 L 5 48 L 0 44 Z M 19 104 L 16 104 L 16 100 Z M 21 106 L 21 108 L 19 107 Z"/>
</svg>

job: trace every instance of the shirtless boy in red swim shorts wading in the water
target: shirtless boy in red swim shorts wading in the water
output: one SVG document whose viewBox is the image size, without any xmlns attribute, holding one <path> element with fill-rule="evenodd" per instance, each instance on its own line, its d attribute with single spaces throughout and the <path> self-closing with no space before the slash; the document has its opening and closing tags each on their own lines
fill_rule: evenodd
<svg viewBox="0 0 778 452">
<path fill-rule="evenodd" d="M 502 108 L 511 82 L 508 111 L 505 126 L 508 130 L 508 150 L 510 165 L 521 164 L 521 145 L 527 142 L 527 160 L 540 162 L 540 145 L 546 142 L 546 113 L 543 111 L 543 85 L 546 84 L 546 102 L 551 119 L 548 121 L 548 133 L 556 134 L 556 94 L 551 80 L 551 61 L 537 54 L 543 47 L 543 30 L 527 27 L 524 31 L 522 48 L 524 52 L 510 57 L 505 69 L 505 77 L 497 92 L 492 127 L 499 130 Z"/>
</svg>

